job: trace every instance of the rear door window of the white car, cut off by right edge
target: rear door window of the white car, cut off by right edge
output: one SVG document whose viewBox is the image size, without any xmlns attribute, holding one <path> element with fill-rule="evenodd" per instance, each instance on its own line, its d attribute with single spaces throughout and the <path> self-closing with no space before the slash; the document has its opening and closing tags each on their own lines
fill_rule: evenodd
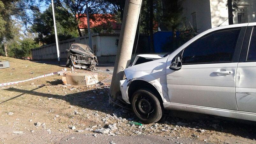
<svg viewBox="0 0 256 144">
<path fill-rule="evenodd" d="M 256 26 L 252 29 L 250 38 L 249 49 L 247 54 L 247 61 L 256 61 Z"/>
</svg>

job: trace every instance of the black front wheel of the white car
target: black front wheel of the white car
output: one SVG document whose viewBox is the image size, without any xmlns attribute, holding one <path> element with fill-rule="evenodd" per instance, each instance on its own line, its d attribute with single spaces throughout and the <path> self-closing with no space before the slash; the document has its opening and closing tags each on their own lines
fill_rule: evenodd
<svg viewBox="0 0 256 144">
<path fill-rule="evenodd" d="M 155 123 L 162 118 L 163 108 L 153 92 L 146 89 L 135 91 L 132 96 L 132 109 L 145 124 Z"/>
</svg>

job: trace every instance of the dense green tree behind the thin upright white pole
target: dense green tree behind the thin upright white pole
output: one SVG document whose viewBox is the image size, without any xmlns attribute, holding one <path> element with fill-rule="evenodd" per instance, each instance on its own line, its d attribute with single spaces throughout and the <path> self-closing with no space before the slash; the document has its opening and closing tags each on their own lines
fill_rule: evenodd
<svg viewBox="0 0 256 144">
<path fill-rule="evenodd" d="M 72 15 L 66 15 L 66 11 L 57 7 L 55 10 L 56 27 L 59 41 L 75 38 L 78 36 L 76 22 Z M 43 13 L 34 13 L 31 32 L 37 33 L 35 40 L 44 44 L 55 42 L 55 32 L 53 27 L 52 6 L 49 5 Z"/>
</svg>

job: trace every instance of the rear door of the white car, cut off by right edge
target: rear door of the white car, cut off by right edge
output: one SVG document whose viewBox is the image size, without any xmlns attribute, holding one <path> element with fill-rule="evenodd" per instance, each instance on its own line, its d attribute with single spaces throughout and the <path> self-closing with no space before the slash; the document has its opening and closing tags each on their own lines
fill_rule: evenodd
<svg viewBox="0 0 256 144">
<path fill-rule="evenodd" d="M 251 24 L 252 25 L 252 24 Z M 256 23 L 248 26 L 237 67 L 238 111 L 256 112 Z"/>
</svg>

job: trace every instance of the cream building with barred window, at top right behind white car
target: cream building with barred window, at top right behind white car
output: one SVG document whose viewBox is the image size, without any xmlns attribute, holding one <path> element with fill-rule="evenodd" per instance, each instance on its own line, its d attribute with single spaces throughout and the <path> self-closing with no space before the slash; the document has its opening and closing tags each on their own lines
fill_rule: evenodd
<svg viewBox="0 0 256 144">
<path fill-rule="evenodd" d="M 229 25 L 227 0 L 179 0 L 183 6 L 183 24 L 203 32 Z M 234 24 L 256 22 L 256 0 L 239 0 L 233 11 Z"/>
</svg>

